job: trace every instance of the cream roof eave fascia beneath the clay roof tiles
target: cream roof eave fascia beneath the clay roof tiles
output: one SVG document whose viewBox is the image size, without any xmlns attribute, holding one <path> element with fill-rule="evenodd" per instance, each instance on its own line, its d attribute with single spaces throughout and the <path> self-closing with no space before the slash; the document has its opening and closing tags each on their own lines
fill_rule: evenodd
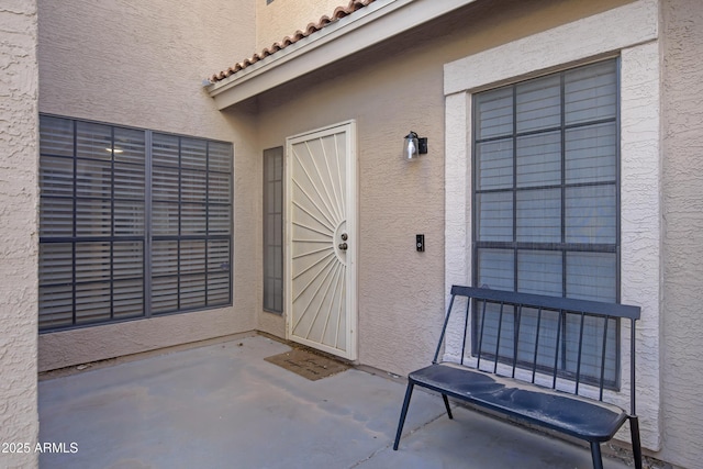
<svg viewBox="0 0 703 469">
<path fill-rule="evenodd" d="M 208 87 L 219 110 L 478 0 L 377 0 Z"/>
</svg>

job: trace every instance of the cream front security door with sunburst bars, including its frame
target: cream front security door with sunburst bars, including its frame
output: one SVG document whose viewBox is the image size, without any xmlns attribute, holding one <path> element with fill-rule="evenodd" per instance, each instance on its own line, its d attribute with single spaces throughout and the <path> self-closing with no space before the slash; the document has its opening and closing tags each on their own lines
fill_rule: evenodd
<svg viewBox="0 0 703 469">
<path fill-rule="evenodd" d="M 286 142 L 288 338 L 357 358 L 354 121 Z"/>
</svg>

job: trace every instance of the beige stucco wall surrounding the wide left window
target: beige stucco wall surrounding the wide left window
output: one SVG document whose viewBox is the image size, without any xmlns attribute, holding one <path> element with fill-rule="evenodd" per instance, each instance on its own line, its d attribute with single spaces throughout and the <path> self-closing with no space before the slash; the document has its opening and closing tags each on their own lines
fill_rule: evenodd
<svg viewBox="0 0 703 469">
<path fill-rule="evenodd" d="M 233 142 L 235 155 L 234 305 L 42 334 L 41 370 L 256 328 L 253 122 L 219 112 L 202 87 L 252 53 L 254 23 L 247 0 L 38 0 L 41 112 Z"/>
</svg>

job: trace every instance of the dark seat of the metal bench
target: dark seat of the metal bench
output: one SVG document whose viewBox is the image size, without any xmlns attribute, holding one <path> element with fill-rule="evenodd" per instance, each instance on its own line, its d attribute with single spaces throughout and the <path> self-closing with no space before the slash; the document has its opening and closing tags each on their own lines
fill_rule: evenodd
<svg viewBox="0 0 703 469">
<path fill-rule="evenodd" d="M 408 379 L 423 388 L 588 442 L 610 440 L 627 420 L 627 412 L 616 405 L 451 364 L 431 365 L 413 371 Z"/>
</svg>

